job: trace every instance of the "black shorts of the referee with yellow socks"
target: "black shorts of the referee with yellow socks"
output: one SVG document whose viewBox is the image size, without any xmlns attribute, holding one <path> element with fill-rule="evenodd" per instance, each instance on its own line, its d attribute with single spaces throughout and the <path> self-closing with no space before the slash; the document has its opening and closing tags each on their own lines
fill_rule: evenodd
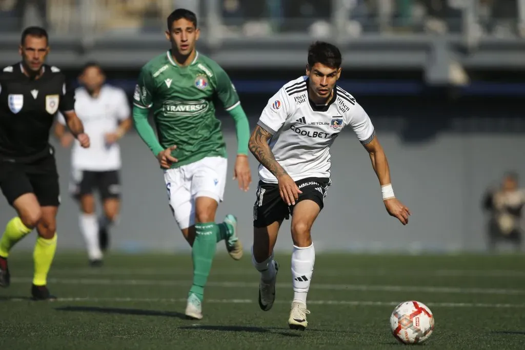
<svg viewBox="0 0 525 350">
<path fill-rule="evenodd" d="M 55 156 L 30 163 L 0 160 L 0 189 L 10 205 L 21 195 L 34 193 L 41 207 L 58 207 L 60 188 Z"/>
</svg>

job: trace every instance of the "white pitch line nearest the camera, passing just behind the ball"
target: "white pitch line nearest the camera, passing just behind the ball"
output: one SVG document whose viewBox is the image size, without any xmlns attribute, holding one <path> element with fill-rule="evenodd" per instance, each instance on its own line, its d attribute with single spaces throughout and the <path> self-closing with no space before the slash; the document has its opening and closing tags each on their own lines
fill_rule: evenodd
<svg viewBox="0 0 525 350">
<path fill-rule="evenodd" d="M 28 301 L 27 298 L 8 298 L 4 301 L 20 302 Z M 109 302 L 109 303 L 185 303 L 185 298 L 108 298 L 108 297 L 64 297 L 58 298 L 55 302 Z M 204 303 L 210 304 L 257 304 L 257 301 L 250 299 L 206 299 Z M 289 301 L 276 300 L 277 304 L 289 304 Z M 335 306 L 396 306 L 399 301 L 380 302 L 380 301 L 353 301 L 353 300 L 309 300 L 308 305 L 335 305 Z M 487 304 L 487 303 L 425 303 L 428 307 L 493 307 L 493 308 L 525 308 L 525 304 Z"/>
</svg>

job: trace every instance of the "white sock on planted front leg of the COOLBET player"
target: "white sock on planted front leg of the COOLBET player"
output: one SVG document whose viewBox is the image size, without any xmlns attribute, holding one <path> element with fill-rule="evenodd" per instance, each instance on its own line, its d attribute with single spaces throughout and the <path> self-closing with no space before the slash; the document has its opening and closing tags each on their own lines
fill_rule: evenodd
<svg viewBox="0 0 525 350">
<path fill-rule="evenodd" d="M 293 303 L 299 302 L 306 305 L 306 295 L 310 289 L 313 274 L 313 265 L 316 261 L 316 251 L 313 243 L 306 248 L 293 246 L 292 252 L 292 283 Z"/>
</svg>

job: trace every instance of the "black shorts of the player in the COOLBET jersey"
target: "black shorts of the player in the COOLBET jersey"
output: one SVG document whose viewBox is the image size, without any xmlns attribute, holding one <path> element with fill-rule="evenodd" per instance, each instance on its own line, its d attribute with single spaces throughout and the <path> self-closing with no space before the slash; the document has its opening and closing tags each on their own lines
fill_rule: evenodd
<svg viewBox="0 0 525 350">
<path fill-rule="evenodd" d="M 324 197 L 326 197 L 328 186 L 330 186 L 329 178 L 306 178 L 296 181 L 296 184 L 302 191 L 296 204 L 309 199 L 316 202 L 320 210 L 323 209 Z M 277 183 L 259 181 L 254 205 L 254 227 L 267 227 L 273 222 L 288 220 L 293 214 L 293 207 L 295 205 L 288 206 L 282 200 Z"/>
</svg>

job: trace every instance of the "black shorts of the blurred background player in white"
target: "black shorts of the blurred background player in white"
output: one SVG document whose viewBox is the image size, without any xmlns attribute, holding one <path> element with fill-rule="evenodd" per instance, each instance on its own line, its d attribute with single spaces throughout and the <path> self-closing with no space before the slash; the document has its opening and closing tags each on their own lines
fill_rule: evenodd
<svg viewBox="0 0 525 350">
<path fill-rule="evenodd" d="M 80 197 L 86 194 L 92 194 L 94 190 L 98 190 L 102 200 L 110 198 L 119 199 L 119 171 L 73 170 L 69 190 L 76 199 L 80 199 Z"/>
</svg>

